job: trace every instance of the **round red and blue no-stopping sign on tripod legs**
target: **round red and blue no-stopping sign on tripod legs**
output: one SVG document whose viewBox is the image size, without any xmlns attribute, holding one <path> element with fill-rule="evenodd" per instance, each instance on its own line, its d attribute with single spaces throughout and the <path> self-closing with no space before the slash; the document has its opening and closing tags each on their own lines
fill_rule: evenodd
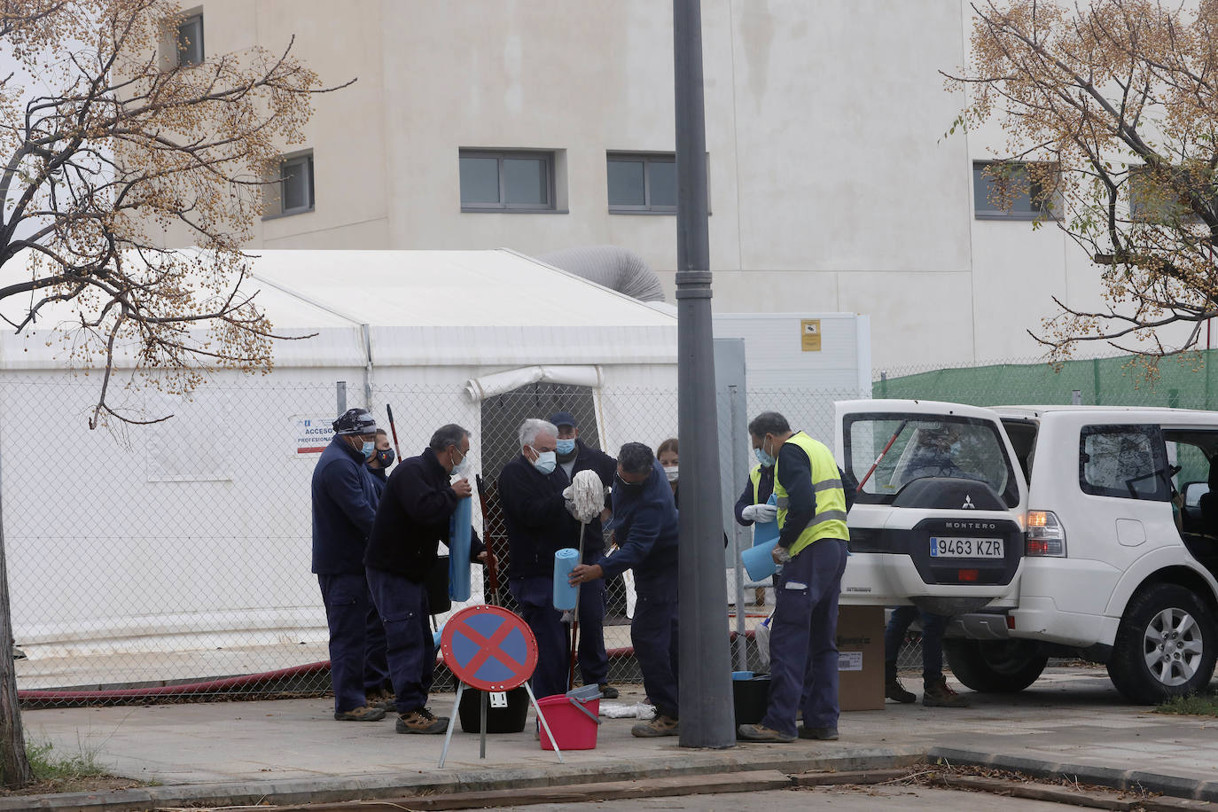
<svg viewBox="0 0 1218 812">
<path fill-rule="evenodd" d="M 546 715 L 541 712 L 537 698 L 533 696 L 532 688 L 529 685 L 529 678 L 532 677 L 532 672 L 537 667 L 537 638 L 533 637 L 532 629 L 519 615 L 514 615 L 502 606 L 480 605 L 463 609 L 445 623 L 445 631 L 440 638 L 440 650 L 443 651 L 445 663 L 458 681 L 457 701 L 453 704 L 453 713 L 448 718 L 445 747 L 440 752 L 440 767 L 445 766 L 445 760 L 448 757 L 448 745 L 452 743 L 457 711 L 466 687 L 482 691 L 479 702 L 481 722 L 479 726 L 481 730 L 479 758 L 486 758 L 487 698 L 490 696 L 498 707 L 499 702 L 507 704 L 505 691 L 524 685 L 529 693 L 529 701 L 537 711 L 537 721 L 554 745 L 554 755 L 558 756 L 559 763 L 565 763 L 563 754 L 558 750 L 558 743 L 554 741 L 554 737 L 549 732 Z"/>
</svg>

